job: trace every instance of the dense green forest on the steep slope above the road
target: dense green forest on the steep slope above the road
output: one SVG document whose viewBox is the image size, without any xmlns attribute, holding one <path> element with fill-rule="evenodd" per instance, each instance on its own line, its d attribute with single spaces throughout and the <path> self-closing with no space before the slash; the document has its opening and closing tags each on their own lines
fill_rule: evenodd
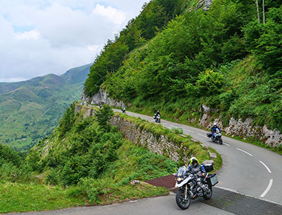
<svg viewBox="0 0 282 215">
<path fill-rule="evenodd" d="M 262 3 L 264 2 L 264 4 Z M 200 117 L 202 104 L 282 132 L 280 1 L 150 1 L 108 41 L 85 82 L 140 110 L 177 120 Z M 259 10 L 259 12 L 257 12 Z"/>
</svg>

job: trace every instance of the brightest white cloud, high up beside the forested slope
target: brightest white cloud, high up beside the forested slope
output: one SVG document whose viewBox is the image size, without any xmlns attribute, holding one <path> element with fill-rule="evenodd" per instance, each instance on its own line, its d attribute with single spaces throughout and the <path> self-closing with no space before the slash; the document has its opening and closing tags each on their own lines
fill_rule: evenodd
<svg viewBox="0 0 282 215">
<path fill-rule="evenodd" d="M 116 8 L 112 8 L 111 6 L 105 8 L 104 5 L 97 4 L 96 8 L 94 8 L 94 10 L 92 11 L 92 14 L 106 17 L 107 19 L 109 19 L 109 21 L 116 24 L 121 24 L 125 20 L 124 13 L 120 10 L 117 10 Z"/>
</svg>

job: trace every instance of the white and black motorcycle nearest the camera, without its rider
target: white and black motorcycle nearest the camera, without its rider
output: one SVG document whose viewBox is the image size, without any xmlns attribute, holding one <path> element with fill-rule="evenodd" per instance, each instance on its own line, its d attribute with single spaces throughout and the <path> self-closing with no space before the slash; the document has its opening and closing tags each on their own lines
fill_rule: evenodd
<svg viewBox="0 0 282 215">
<path fill-rule="evenodd" d="M 213 170 L 213 164 L 210 163 L 203 166 L 206 166 L 206 172 L 201 174 L 201 182 L 206 187 L 206 192 L 197 185 L 197 177 L 195 176 L 197 172 L 188 171 L 186 166 L 182 166 L 175 174 L 175 188 L 178 188 L 175 200 L 182 210 L 186 210 L 189 207 L 191 199 L 203 197 L 208 200 L 213 195 L 212 187 L 218 183 L 217 174 L 208 174 L 208 172 Z"/>
</svg>

